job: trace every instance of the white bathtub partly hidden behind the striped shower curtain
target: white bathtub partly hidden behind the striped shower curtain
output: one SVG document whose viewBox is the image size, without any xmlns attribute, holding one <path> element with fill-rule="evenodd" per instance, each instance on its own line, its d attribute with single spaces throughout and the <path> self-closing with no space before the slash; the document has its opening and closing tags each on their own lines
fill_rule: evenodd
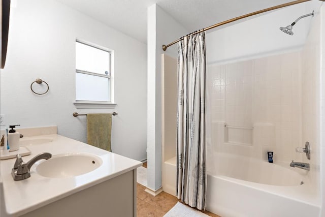
<svg viewBox="0 0 325 217">
<path fill-rule="evenodd" d="M 222 217 L 318 217 L 320 202 L 308 171 L 290 168 L 289 163 L 214 154 L 207 166 L 206 209 Z M 163 164 L 163 190 L 175 195 L 175 185 L 176 157 Z"/>
</svg>

